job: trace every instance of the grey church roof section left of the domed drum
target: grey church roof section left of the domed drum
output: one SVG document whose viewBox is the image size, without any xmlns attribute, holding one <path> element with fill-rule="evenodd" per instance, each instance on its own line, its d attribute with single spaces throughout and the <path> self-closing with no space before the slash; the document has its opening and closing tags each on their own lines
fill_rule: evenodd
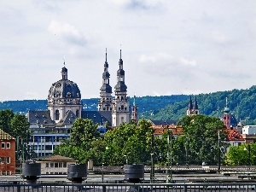
<svg viewBox="0 0 256 192">
<path fill-rule="evenodd" d="M 55 126 L 55 121 L 50 119 L 49 111 L 28 111 L 26 117 L 30 125 Z"/>
</svg>

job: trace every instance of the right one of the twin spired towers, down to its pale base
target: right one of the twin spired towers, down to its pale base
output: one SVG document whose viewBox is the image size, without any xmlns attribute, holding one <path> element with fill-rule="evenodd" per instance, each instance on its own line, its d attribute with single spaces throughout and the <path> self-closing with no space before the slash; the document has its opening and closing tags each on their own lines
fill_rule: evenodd
<svg viewBox="0 0 256 192">
<path fill-rule="evenodd" d="M 112 111 L 112 126 L 130 122 L 130 103 L 127 98 L 125 85 L 125 71 L 123 69 L 122 50 L 120 49 L 119 70 L 117 71 L 117 84 L 114 86 L 114 99 Z"/>
</svg>

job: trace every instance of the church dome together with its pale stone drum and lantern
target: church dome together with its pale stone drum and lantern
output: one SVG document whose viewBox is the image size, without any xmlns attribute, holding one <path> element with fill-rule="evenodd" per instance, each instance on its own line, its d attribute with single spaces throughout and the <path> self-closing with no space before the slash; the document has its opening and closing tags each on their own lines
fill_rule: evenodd
<svg viewBox="0 0 256 192">
<path fill-rule="evenodd" d="M 78 84 L 67 79 L 65 62 L 61 69 L 61 77 L 61 80 L 51 85 L 48 95 L 47 107 L 50 118 L 55 123 L 67 116 L 67 112 L 73 113 L 78 118 L 81 117 L 82 112 L 81 93 Z"/>
</svg>

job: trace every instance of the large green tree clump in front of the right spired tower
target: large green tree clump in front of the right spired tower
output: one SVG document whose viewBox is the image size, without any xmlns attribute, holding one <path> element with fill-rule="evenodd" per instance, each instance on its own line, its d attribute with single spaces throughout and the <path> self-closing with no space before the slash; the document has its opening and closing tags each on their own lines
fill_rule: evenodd
<svg viewBox="0 0 256 192">
<path fill-rule="evenodd" d="M 122 124 L 113 131 L 108 131 L 104 136 L 107 144 L 105 163 L 110 166 L 123 165 L 126 158 L 129 164 L 147 163 L 152 150 L 152 133 L 151 124 L 144 119 L 140 120 L 138 125 Z"/>
</svg>

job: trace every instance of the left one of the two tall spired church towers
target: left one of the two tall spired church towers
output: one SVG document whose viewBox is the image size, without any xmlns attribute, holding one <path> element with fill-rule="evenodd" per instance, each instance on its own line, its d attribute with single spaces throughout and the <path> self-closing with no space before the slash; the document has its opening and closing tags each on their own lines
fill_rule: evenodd
<svg viewBox="0 0 256 192">
<path fill-rule="evenodd" d="M 98 102 L 99 111 L 112 111 L 112 87 L 109 84 L 110 74 L 108 73 L 107 49 L 106 61 L 104 63 L 104 72 L 102 73 L 102 87 L 100 92 L 100 99 Z"/>
</svg>

